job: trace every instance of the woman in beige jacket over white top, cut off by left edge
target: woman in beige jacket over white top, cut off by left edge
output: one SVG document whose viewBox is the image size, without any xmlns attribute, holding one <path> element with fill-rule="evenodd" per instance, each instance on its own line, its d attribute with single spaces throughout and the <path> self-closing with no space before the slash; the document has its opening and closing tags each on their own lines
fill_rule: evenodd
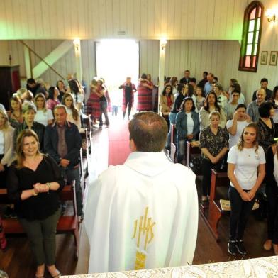
<svg viewBox="0 0 278 278">
<path fill-rule="evenodd" d="M 0 188 L 6 187 L 6 170 L 16 158 L 13 150 L 14 128 L 9 123 L 6 111 L 0 109 Z"/>
</svg>

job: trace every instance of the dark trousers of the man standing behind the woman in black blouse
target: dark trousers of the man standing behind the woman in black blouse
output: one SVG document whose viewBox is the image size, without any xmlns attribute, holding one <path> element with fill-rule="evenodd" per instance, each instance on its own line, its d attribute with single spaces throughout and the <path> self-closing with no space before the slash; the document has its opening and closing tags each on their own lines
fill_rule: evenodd
<svg viewBox="0 0 278 278">
<path fill-rule="evenodd" d="M 77 196 L 77 215 L 82 216 L 83 214 L 83 194 L 80 185 L 80 173 L 79 167 L 75 169 L 65 169 L 62 168 L 62 174 L 65 179 L 67 179 L 67 184 L 70 184 L 75 180 L 75 194 Z"/>
</svg>

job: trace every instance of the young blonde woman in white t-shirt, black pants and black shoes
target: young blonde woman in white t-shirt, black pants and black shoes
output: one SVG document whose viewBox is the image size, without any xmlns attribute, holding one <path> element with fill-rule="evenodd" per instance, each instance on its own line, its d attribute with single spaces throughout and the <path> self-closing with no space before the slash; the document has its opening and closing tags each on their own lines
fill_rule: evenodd
<svg viewBox="0 0 278 278">
<path fill-rule="evenodd" d="M 243 233 L 252 207 L 255 194 L 265 177 L 265 152 L 258 145 L 258 128 L 249 123 L 243 129 L 238 145 L 228 154 L 228 177 L 230 179 L 230 240 L 228 252 L 235 255 L 246 254 Z"/>
</svg>

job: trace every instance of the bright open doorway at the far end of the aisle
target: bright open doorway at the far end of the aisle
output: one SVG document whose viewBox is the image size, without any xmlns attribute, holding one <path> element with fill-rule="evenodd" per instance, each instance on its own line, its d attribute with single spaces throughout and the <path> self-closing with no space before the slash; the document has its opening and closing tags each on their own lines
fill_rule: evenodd
<svg viewBox="0 0 278 278">
<path fill-rule="evenodd" d="M 105 80 L 111 103 L 121 111 L 122 90 L 118 87 L 131 77 L 137 84 L 139 76 L 139 43 L 135 40 L 101 40 L 96 43 L 96 74 Z M 137 104 L 135 94 L 133 109 Z M 118 113 L 121 114 L 121 113 Z"/>
</svg>

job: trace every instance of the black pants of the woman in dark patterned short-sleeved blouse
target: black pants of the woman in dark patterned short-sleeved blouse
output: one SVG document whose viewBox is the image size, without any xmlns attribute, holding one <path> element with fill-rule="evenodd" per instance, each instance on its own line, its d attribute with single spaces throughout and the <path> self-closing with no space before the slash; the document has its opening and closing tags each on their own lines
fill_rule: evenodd
<svg viewBox="0 0 278 278">
<path fill-rule="evenodd" d="M 221 165 L 223 160 L 219 160 L 216 164 L 213 164 L 211 160 L 202 159 L 201 161 L 201 170 L 203 174 L 203 180 L 201 182 L 201 187 L 203 190 L 203 196 L 207 196 L 211 194 L 211 169 L 216 169 L 219 171 L 221 169 Z"/>
</svg>

